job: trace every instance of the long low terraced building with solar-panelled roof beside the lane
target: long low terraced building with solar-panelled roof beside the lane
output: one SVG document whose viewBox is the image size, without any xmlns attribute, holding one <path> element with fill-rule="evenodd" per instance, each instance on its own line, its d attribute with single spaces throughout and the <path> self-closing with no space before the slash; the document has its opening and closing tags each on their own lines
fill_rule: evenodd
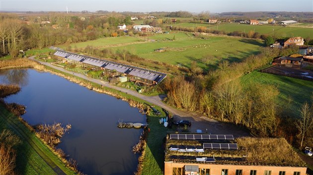
<svg viewBox="0 0 313 175">
<path fill-rule="evenodd" d="M 149 86 L 160 83 L 166 77 L 166 74 L 161 72 L 120 64 L 62 50 L 56 51 L 54 55 L 67 60 L 79 62 L 80 64 L 87 64 L 98 67 L 102 69 L 103 72 L 109 73 L 111 76 L 126 76 L 127 79 L 131 82 L 140 82 Z"/>
</svg>

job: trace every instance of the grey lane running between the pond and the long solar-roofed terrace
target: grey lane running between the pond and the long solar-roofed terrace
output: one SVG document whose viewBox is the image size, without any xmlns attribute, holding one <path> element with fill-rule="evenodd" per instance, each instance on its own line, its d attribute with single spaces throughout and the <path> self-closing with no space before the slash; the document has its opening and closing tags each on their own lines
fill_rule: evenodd
<svg viewBox="0 0 313 175">
<path fill-rule="evenodd" d="M 54 69 L 57 69 L 59 71 L 73 74 L 73 72 L 65 70 L 64 68 L 54 66 L 54 65 L 47 63 L 47 62 L 38 61 L 38 60 L 34 59 L 34 57 L 35 56 L 31 56 L 31 57 L 29 57 L 29 59 L 34 60 L 36 62 L 39 62 L 43 65 L 52 67 Z M 127 89 L 127 88 L 121 88 L 121 87 L 113 86 L 113 85 L 110 85 L 108 82 L 103 82 L 103 81 L 100 81 L 97 79 L 92 79 L 92 78 L 89 78 L 89 77 L 82 75 L 82 74 L 78 74 L 78 73 L 74 73 L 74 74 L 75 74 L 75 76 L 80 77 L 82 79 L 85 79 L 85 80 L 88 80 L 90 82 L 102 85 L 102 86 L 107 87 L 107 88 L 120 90 L 122 92 L 131 94 L 131 95 L 136 96 L 138 98 L 141 98 L 141 99 L 143 99 L 147 102 L 150 102 L 152 104 L 155 104 L 159 107 L 162 107 L 172 114 L 175 121 L 178 121 L 180 119 L 190 120 L 191 121 L 190 131 L 195 132 L 196 130 L 202 130 L 203 132 L 208 131 L 208 132 L 211 132 L 214 134 L 233 134 L 235 137 L 249 135 L 249 133 L 247 131 L 243 131 L 234 125 L 221 123 L 221 122 L 218 122 L 216 120 L 209 119 L 208 117 L 205 117 L 205 116 L 198 114 L 198 113 L 194 113 L 194 112 L 190 112 L 190 111 L 184 111 L 184 110 L 178 110 L 178 109 L 175 109 L 171 106 L 168 106 L 162 102 L 162 99 L 164 98 L 164 96 L 162 96 L 162 95 L 161 96 L 146 96 L 146 95 L 138 93 L 137 91 Z"/>
</svg>

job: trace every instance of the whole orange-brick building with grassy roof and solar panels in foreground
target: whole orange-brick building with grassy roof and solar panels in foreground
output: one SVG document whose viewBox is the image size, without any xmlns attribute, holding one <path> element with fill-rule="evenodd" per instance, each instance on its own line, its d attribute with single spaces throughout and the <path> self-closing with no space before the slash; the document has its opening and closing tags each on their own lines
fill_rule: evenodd
<svg viewBox="0 0 313 175">
<path fill-rule="evenodd" d="M 164 175 L 305 175 L 307 171 L 283 138 L 199 133 L 169 133 L 166 138 Z"/>
</svg>

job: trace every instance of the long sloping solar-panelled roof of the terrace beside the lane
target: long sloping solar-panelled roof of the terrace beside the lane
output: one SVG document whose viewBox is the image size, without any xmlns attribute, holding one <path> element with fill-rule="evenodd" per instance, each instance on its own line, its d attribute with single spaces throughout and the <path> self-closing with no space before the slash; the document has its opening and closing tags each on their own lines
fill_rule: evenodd
<svg viewBox="0 0 313 175">
<path fill-rule="evenodd" d="M 139 78 L 155 81 L 157 83 L 161 82 L 166 77 L 166 74 L 161 72 L 120 64 L 112 61 L 102 60 L 90 56 L 79 55 L 76 53 L 62 50 L 58 50 L 57 52 L 54 53 L 54 55 L 90 64 L 97 67 L 103 67 L 108 70 L 116 70 L 117 72 L 120 73 L 125 73 Z"/>
</svg>

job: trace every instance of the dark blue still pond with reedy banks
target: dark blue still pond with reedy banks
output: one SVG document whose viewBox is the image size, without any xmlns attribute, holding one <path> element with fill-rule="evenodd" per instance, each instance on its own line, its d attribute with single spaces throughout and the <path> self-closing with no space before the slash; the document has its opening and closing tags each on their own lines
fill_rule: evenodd
<svg viewBox="0 0 313 175">
<path fill-rule="evenodd" d="M 64 78 L 32 69 L 0 72 L 0 83 L 21 91 L 5 99 L 27 106 L 22 117 L 30 124 L 71 124 L 58 147 L 88 175 L 131 175 L 138 156 L 131 150 L 142 130 L 118 129 L 118 119 L 145 123 L 137 108 L 110 95 L 81 87 Z"/>
</svg>

